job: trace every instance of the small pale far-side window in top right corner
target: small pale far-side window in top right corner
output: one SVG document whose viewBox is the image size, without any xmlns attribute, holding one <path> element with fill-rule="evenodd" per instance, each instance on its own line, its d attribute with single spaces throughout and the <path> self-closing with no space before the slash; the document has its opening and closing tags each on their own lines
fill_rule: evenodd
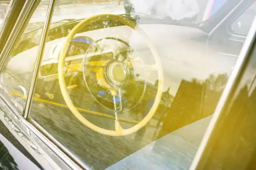
<svg viewBox="0 0 256 170">
<path fill-rule="evenodd" d="M 238 34 L 247 34 L 256 15 L 256 2 L 253 2 L 236 20 L 231 24 L 231 30 Z"/>
</svg>

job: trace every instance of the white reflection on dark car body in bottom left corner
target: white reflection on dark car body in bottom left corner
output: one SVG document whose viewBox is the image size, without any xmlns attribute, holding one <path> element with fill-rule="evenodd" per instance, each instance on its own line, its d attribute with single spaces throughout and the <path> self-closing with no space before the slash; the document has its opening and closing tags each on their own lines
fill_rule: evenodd
<svg viewBox="0 0 256 170">
<path fill-rule="evenodd" d="M 11 144 L 3 135 L 0 134 L 0 141 L 8 149 L 10 155 L 17 163 L 19 170 L 40 170 L 34 163 L 32 163 L 23 153 L 21 153 L 13 144 Z"/>
</svg>

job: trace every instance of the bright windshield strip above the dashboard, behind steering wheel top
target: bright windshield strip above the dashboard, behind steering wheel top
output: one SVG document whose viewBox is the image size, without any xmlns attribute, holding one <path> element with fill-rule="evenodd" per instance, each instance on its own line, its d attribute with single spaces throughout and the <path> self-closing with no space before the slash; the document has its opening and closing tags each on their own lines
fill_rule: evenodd
<svg viewBox="0 0 256 170">
<path fill-rule="evenodd" d="M 125 15 L 148 15 L 152 18 L 179 23 L 202 23 L 214 15 L 227 0 L 118 0 L 119 2 L 100 2 L 67 4 L 57 10 L 52 22 L 65 19 L 83 19 L 92 15 L 112 13 Z M 116 5 L 116 4 L 120 5 Z M 75 10 L 72 11 L 75 7 Z M 45 10 L 42 6 L 41 9 Z M 87 11 L 90 11 L 88 13 Z M 41 14 L 33 16 L 36 20 Z M 42 22 L 44 22 L 42 20 Z M 61 23 L 65 23 L 62 21 Z"/>
</svg>

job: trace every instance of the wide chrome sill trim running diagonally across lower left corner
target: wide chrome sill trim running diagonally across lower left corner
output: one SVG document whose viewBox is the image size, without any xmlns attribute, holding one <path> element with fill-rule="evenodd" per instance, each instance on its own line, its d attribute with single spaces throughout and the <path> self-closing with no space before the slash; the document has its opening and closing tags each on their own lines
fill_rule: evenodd
<svg viewBox="0 0 256 170">
<path fill-rule="evenodd" d="M 19 133 L 19 131 L 15 130 L 15 126 L 13 126 L 12 124 L 10 124 L 9 122 L 15 122 L 15 124 L 17 124 L 17 126 L 20 128 L 20 130 L 23 131 L 23 133 L 26 133 L 27 137 L 33 141 L 33 143 L 37 146 L 37 150 L 40 151 L 41 155 L 38 155 L 35 153 L 33 153 L 35 150 L 31 150 L 31 145 L 29 145 L 30 143 L 27 143 L 28 140 L 23 141 L 24 138 L 20 139 L 19 142 L 28 150 L 29 153 L 31 153 L 31 155 L 34 156 L 34 158 L 36 158 L 36 160 L 38 161 L 39 164 L 42 164 L 41 162 L 41 156 L 44 157 L 44 159 L 46 158 L 47 161 L 44 162 L 44 164 L 47 164 L 46 166 L 48 166 L 48 164 L 50 165 L 50 168 L 46 168 L 46 169 L 51 169 L 53 167 L 53 165 L 55 167 L 55 169 L 61 169 L 61 170 L 80 170 L 81 168 L 75 164 L 74 162 L 72 162 L 72 160 L 65 155 L 59 148 L 57 148 L 56 145 L 54 145 L 54 143 L 52 143 L 48 138 L 46 138 L 40 131 L 38 131 L 35 127 L 33 127 L 33 125 L 31 125 L 27 120 L 24 119 L 24 117 L 21 116 L 21 112 L 16 111 L 17 115 L 13 112 L 13 109 L 11 109 L 11 107 L 13 107 L 15 109 L 15 106 L 13 104 L 8 104 L 8 102 L 6 102 L 9 97 L 8 95 L 2 95 L 2 92 L 0 92 L 0 110 L 3 109 L 4 112 L 6 112 L 6 114 L 0 114 L 0 120 L 5 124 L 5 126 L 8 128 L 8 130 L 10 130 L 10 132 L 17 138 L 16 136 Z M 11 107 L 10 107 L 11 106 Z M 0 111 L 1 113 L 1 111 Z M 4 117 L 2 117 L 2 115 L 4 117 L 8 116 L 9 118 L 6 119 Z M 7 123 L 7 124 L 6 124 Z M 39 152 L 36 152 L 39 153 Z"/>
</svg>

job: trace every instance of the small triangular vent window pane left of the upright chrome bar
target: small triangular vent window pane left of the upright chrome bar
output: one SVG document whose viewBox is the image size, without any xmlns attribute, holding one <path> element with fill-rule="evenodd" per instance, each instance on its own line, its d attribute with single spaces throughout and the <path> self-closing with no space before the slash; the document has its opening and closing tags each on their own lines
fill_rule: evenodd
<svg viewBox="0 0 256 170">
<path fill-rule="evenodd" d="M 34 11 L 24 34 L 12 48 L 2 70 L 3 85 L 16 97 L 23 107 L 25 106 L 25 98 L 30 87 L 30 80 L 38 52 L 38 47 L 36 46 L 41 41 L 42 29 L 38 30 L 37 28 L 43 26 L 48 4 L 49 0 L 42 1 Z M 28 31 L 32 30 L 34 31 L 28 34 Z M 30 53 L 33 57 L 28 56 L 26 53 Z"/>
</svg>

